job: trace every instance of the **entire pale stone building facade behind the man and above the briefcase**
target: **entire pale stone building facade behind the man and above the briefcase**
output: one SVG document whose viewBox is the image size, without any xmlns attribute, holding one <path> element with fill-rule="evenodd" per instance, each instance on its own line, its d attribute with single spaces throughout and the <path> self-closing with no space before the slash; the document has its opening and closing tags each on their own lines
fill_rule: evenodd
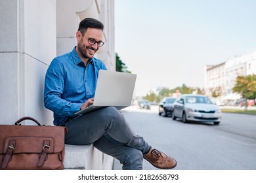
<svg viewBox="0 0 256 183">
<path fill-rule="evenodd" d="M 1 0 L 0 12 L 0 124 L 32 116 L 53 125 L 43 104 L 45 73 L 54 57 L 74 48 L 83 18 L 104 24 L 96 57 L 116 70 L 113 0 Z"/>
</svg>

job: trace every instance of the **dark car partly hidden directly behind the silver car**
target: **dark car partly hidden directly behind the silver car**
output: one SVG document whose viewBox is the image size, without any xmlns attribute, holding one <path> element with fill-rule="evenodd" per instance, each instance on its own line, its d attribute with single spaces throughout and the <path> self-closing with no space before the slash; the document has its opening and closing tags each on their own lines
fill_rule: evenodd
<svg viewBox="0 0 256 183">
<path fill-rule="evenodd" d="M 165 117 L 171 116 L 175 99 L 176 97 L 164 97 L 159 104 L 158 114 Z"/>
</svg>

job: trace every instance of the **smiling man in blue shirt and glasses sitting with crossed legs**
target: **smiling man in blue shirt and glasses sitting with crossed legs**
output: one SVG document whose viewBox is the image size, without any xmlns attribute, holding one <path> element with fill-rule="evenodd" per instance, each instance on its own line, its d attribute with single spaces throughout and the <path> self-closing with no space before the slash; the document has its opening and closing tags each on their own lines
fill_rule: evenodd
<svg viewBox="0 0 256 183">
<path fill-rule="evenodd" d="M 85 18 L 76 32 L 77 46 L 53 59 L 45 76 L 45 107 L 54 112 L 54 125 L 66 125 L 66 144 L 91 144 L 113 156 L 123 169 L 142 169 L 143 158 L 160 169 L 173 169 L 175 159 L 152 148 L 133 133 L 123 114 L 106 107 L 75 116 L 75 112 L 93 104 L 98 71 L 106 66 L 95 53 L 103 46 L 104 25 Z"/>
</svg>

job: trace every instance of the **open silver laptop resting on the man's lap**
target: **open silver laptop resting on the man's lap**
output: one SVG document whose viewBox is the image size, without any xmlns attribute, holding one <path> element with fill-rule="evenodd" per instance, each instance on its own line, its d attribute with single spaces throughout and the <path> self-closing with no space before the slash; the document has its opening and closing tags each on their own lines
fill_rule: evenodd
<svg viewBox="0 0 256 183">
<path fill-rule="evenodd" d="M 118 110 L 131 105 L 137 75 L 100 70 L 93 105 L 75 114 L 85 114 L 98 108 L 113 106 Z"/>
</svg>

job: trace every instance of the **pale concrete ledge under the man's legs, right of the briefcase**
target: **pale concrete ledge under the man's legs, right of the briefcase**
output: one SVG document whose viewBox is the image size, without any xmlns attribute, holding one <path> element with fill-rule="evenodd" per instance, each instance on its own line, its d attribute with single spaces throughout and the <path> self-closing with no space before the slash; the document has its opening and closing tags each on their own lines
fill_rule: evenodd
<svg viewBox="0 0 256 183">
<path fill-rule="evenodd" d="M 111 170 L 114 158 L 108 156 L 93 144 L 74 146 L 65 144 L 64 169 L 106 169 Z"/>
</svg>

